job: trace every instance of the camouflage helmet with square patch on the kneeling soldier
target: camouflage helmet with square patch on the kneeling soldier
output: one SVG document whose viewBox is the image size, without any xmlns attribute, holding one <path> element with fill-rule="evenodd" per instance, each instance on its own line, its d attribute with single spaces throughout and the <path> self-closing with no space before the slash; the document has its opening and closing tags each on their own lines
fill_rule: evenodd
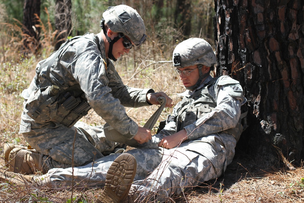
<svg viewBox="0 0 304 203">
<path fill-rule="evenodd" d="M 110 30 L 128 36 L 136 46 L 146 41 L 145 24 L 138 12 L 127 5 L 109 7 L 103 14 L 101 23 L 106 23 Z"/>
</svg>

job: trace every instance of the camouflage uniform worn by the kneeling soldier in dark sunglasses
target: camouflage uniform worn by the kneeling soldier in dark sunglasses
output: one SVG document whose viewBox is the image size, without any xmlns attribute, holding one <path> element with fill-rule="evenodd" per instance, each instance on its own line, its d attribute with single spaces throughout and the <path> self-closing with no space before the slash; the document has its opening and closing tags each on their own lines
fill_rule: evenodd
<svg viewBox="0 0 304 203">
<path fill-rule="evenodd" d="M 112 61 L 106 59 L 100 33 L 72 38 L 62 47 L 58 56 L 55 52 L 38 63 L 39 77 L 35 77 L 29 88 L 22 92 L 24 110 L 19 132 L 44 155 L 43 171 L 70 167 L 72 158 L 74 166 L 85 165 L 103 157 L 102 153 L 112 152 L 118 145 L 105 139 L 103 126 L 76 123 L 91 107 L 113 128 L 131 139 L 138 126 L 127 116 L 124 107 L 149 105 L 146 94 L 154 93 L 152 89 L 123 84 Z M 52 65 L 46 66 L 51 60 L 54 60 Z M 52 85 L 59 87 L 58 93 L 49 91 Z M 77 107 L 80 107 L 79 112 Z M 65 111 L 68 109 L 77 112 L 79 117 L 68 114 L 71 112 Z"/>
</svg>

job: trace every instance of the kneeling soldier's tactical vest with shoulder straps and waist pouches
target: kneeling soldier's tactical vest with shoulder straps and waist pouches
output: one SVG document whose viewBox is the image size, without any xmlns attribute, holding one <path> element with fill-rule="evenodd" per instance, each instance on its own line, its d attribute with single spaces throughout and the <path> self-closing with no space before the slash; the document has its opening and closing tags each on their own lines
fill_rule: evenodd
<svg viewBox="0 0 304 203">
<path fill-rule="evenodd" d="M 98 38 L 93 36 L 93 39 L 100 50 Z M 39 123 L 54 122 L 71 128 L 91 109 L 79 84 L 62 89 L 53 85 L 50 80 L 50 68 L 55 59 L 60 60 L 61 53 L 67 49 L 68 43 L 72 41 L 69 44 L 71 45 L 79 40 L 81 40 L 80 36 L 67 40 L 49 61 L 36 69 L 35 78 L 28 89 L 30 97 L 26 100 L 24 109 L 34 121 Z M 41 83 L 39 74 L 45 67 L 47 67 L 47 78 Z"/>
</svg>

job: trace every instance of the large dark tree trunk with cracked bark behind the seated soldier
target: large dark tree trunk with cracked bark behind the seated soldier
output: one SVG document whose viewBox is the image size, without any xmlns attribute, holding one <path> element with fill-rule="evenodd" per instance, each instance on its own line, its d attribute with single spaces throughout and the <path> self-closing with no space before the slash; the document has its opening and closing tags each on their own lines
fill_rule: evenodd
<svg viewBox="0 0 304 203">
<path fill-rule="evenodd" d="M 215 11 L 217 75 L 240 81 L 248 100 L 250 127 L 237 148 L 268 165 L 300 166 L 304 2 L 215 0 Z"/>
</svg>

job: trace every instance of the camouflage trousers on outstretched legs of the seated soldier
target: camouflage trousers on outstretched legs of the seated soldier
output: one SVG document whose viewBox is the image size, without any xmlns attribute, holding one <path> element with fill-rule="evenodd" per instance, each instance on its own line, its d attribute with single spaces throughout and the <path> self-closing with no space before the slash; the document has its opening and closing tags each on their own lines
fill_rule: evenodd
<svg viewBox="0 0 304 203">
<path fill-rule="evenodd" d="M 160 139 L 161 137 L 154 136 L 151 142 L 155 144 Z M 223 143 L 216 140 L 216 136 L 209 135 L 182 143 L 174 149 L 151 146 L 150 143 L 146 144 L 150 146 L 127 151 L 137 162 L 132 193 L 141 201 L 162 202 L 204 181 L 221 176 L 226 169 L 227 159 L 229 162 L 232 160 L 234 151 L 227 153 L 221 145 Z M 106 173 L 117 156 L 119 154 L 105 156 L 86 166 L 49 170 L 52 185 L 54 188 L 70 186 L 72 183 L 79 187 L 103 187 Z"/>
</svg>

